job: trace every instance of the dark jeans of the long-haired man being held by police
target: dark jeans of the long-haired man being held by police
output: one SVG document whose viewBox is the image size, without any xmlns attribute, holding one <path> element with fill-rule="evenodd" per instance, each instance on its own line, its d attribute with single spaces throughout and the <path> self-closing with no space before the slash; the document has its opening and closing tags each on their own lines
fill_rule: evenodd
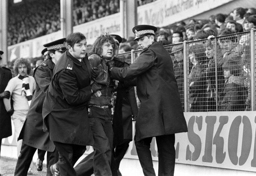
<svg viewBox="0 0 256 176">
<path fill-rule="evenodd" d="M 113 129 L 111 109 L 90 107 L 89 122 L 93 134 L 95 150 L 93 168 L 95 176 L 112 176 L 111 155 Z"/>
</svg>

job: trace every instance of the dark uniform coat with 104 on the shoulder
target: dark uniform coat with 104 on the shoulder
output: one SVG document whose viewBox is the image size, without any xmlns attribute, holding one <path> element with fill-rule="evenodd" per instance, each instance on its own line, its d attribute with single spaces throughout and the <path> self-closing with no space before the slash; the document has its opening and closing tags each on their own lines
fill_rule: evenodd
<svg viewBox="0 0 256 176">
<path fill-rule="evenodd" d="M 54 67 L 43 104 L 44 131 L 52 141 L 93 144 L 87 115 L 91 94 L 87 55 L 80 62 L 66 51 Z"/>
</svg>

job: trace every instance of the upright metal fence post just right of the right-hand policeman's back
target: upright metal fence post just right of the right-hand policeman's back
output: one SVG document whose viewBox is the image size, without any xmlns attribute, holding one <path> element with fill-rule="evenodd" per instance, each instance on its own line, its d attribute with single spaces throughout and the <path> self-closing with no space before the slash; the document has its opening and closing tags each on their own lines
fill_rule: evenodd
<svg viewBox="0 0 256 176">
<path fill-rule="evenodd" d="M 184 112 L 188 112 L 188 64 L 187 64 L 187 42 L 183 42 L 183 76 L 184 76 Z"/>
</svg>

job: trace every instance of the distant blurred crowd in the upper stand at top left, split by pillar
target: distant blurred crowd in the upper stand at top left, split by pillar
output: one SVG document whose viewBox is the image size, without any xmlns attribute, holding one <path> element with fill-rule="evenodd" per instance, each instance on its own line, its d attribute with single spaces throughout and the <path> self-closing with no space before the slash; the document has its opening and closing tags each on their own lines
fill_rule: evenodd
<svg viewBox="0 0 256 176">
<path fill-rule="evenodd" d="M 119 0 L 74 0 L 74 26 L 119 12 Z M 60 30 L 60 0 L 8 4 L 8 45 Z"/>
</svg>

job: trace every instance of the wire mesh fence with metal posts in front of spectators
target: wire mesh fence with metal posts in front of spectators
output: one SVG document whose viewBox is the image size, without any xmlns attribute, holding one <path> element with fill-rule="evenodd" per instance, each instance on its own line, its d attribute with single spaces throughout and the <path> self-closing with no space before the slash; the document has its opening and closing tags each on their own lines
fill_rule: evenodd
<svg viewBox="0 0 256 176">
<path fill-rule="evenodd" d="M 184 112 L 255 111 L 256 30 L 164 46 Z M 119 54 L 132 63 L 140 50 Z"/>
</svg>

